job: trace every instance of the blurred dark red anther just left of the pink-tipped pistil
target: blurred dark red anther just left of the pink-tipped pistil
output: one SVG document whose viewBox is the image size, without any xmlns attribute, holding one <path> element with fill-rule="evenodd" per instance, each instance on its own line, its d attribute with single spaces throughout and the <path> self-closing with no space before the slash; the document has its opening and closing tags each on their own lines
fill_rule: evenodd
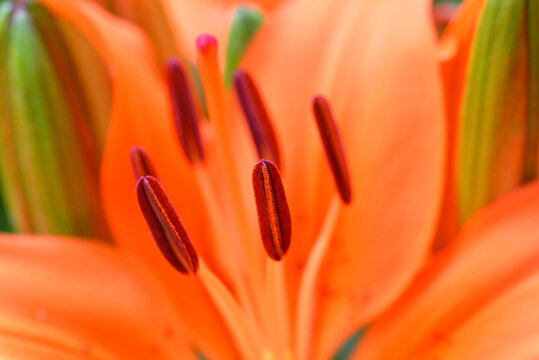
<svg viewBox="0 0 539 360">
<path fill-rule="evenodd" d="M 191 164 L 203 161 L 204 149 L 198 129 L 198 115 L 193 104 L 185 72 L 178 59 L 167 61 L 166 78 L 174 125 L 183 152 Z"/>
</svg>

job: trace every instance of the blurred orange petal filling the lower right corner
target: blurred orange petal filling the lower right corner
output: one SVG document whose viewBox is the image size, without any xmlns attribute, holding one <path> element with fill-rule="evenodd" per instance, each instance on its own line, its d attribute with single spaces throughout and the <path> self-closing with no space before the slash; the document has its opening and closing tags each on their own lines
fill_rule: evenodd
<svg viewBox="0 0 539 360">
<path fill-rule="evenodd" d="M 369 329 L 356 358 L 536 357 L 538 216 L 537 183 L 474 215 Z"/>
</svg>

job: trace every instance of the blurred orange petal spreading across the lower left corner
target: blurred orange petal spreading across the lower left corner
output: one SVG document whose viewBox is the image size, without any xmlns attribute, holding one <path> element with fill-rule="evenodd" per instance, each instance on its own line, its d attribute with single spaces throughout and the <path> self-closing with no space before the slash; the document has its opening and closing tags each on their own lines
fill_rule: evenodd
<svg viewBox="0 0 539 360">
<path fill-rule="evenodd" d="M 0 283 L 0 355 L 194 358 L 165 290 L 110 246 L 0 235 Z"/>
</svg>

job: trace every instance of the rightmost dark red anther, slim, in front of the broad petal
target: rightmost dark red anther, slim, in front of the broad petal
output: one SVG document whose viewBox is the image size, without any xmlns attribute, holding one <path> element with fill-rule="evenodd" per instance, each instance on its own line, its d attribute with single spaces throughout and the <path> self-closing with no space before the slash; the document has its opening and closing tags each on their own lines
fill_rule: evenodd
<svg viewBox="0 0 539 360">
<path fill-rule="evenodd" d="M 352 188 L 348 163 L 331 107 L 323 96 L 318 95 L 313 99 L 313 111 L 337 191 L 343 203 L 349 204 L 352 200 Z"/>
</svg>

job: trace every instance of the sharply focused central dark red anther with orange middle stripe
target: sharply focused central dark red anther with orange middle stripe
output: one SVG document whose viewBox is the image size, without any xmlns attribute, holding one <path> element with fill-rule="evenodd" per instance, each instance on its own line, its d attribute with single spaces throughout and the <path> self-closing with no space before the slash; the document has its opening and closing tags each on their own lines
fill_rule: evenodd
<svg viewBox="0 0 539 360">
<path fill-rule="evenodd" d="M 292 222 L 281 175 L 274 163 L 262 160 L 255 165 L 253 190 L 264 248 L 270 258 L 281 260 L 290 246 Z"/>
</svg>

